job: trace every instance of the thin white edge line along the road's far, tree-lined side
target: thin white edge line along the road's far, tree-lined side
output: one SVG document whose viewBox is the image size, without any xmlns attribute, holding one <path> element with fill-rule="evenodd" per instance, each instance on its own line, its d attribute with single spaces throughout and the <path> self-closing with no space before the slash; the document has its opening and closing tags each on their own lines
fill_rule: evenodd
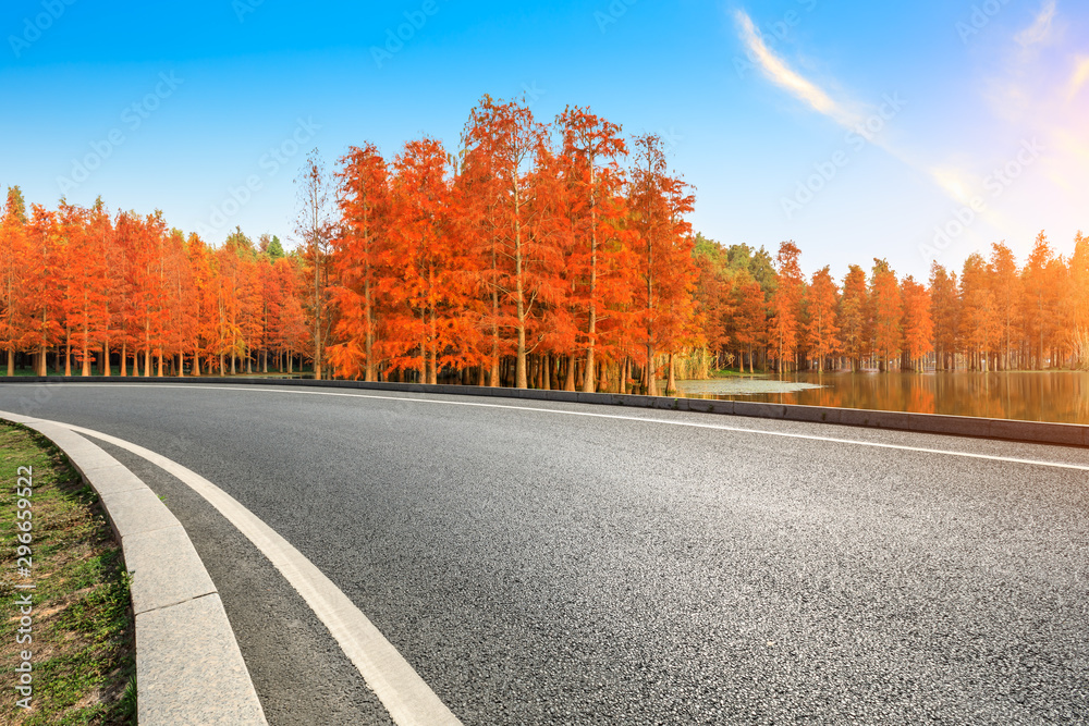
<svg viewBox="0 0 1089 726">
<path fill-rule="evenodd" d="M 56 385 L 64 385 L 58 383 Z M 1054 469 L 1073 469 L 1075 471 L 1089 471 L 1089 465 L 1065 464 L 1062 462 L 1043 462 L 1040 459 L 1023 459 L 1012 456 L 992 456 L 991 454 L 974 454 L 971 452 L 954 452 L 944 448 L 926 448 L 922 446 L 905 446 L 904 444 L 885 444 L 878 441 L 859 441 L 857 439 L 836 439 L 833 436 L 815 436 L 808 433 L 790 433 L 786 431 L 764 431 L 761 429 L 746 429 L 735 426 L 722 426 L 719 423 L 700 423 L 698 421 L 674 421 L 665 418 L 649 418 L 644 416 L 617 416 L 616 414 L 595 414 L 591 411 L 573 411 L 562 408 L 536 408 L 533 406 L 506 406 L 503 404 L 480 404 L 469 401 L 442 401 L 437 398 L 408 398 L 405 396 L 381 396 L 369 393 L 341 393 L 338 391 L 294 391 L 287 389 L 256 389 L 252 386 L 233 385 L 163 385 L 158 383 L 75 383 L 74 386 L 88 387 L 143 387 L 143 389 L 194 389 L 204 391 L 242 391 L 252 393 L 295 393 L 311 396 L 344 396 L 350 398 L 376 398 L 379 401 L 403 401 L 418 404 L 440 404 L 443 406 L 472 406 L 477 408 L 507 408 L 511 410 L 537 411 L 541 414 L 561 414 L 564 416 L 587 416 L 590 418 L 610 418 L 621 421 L 641 421 L 644 423 L 664 423 L 666 426 L 684 426 L 695 429 L 714 429 L 717 431 L 732 431 L 736 433 L 752 433 L 763 436 L 781 436 L 783 439 L 805 439 L 807 441 L 825 441 L 833 444 L 848 444 L 852 446 L 871 446 L 873 448 L 894 448 L 904 452 L 918 452 L 920 454 L 939 454 L 942 456 L 959 456 L 962 458 L 986 459 L 988 462 L 1004 462 L 1007 464 L 1027 464 L 1029 466 L 1044 466 Z M 362 391 L 362 389 L 360 389 Z M 442 394 L 437 394 L 442 395 Z M 452 394 L 451 394 L 452 395 Z M 916 433 L 907 431 L 905 433 Z M 1041 444 L 1042 445 L 1042 444 Z"/>
</svg>

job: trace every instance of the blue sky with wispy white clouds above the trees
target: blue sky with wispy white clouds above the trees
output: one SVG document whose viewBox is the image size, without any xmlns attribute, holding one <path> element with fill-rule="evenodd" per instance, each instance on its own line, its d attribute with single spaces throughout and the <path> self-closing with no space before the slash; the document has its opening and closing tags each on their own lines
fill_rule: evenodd
<svg viewBox="0 0 1089 726">
<path fill-rule="evenodd" d="M 794 239 L 810 273 L 884 257 L 925 278 L 1089 230 L 1075 0 L 14 0 L 0 29 L 0 184 L 159 208 L 212 243 L 235 224 L 289 238 L 309 148 L 455 149 L 484 94 L 662 134 L 698 231 Z"/>
</svg>

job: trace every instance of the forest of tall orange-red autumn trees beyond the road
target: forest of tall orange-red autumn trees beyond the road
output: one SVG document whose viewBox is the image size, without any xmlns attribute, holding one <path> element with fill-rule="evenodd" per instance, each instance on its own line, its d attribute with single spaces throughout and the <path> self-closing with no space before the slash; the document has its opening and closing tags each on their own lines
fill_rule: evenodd
<svg viewBox="0 0 1089 726">
<path fill-rule="evenodd" d="M 285 251 L 221 245 L 160 212 L 8 190 L 7 373 L 299 373 L 634 392 L 721 368 L 1013 370 L 1089 366 L 1089 238 L 1024 264 L 1004 244 L 960 270 L 882 259 L 806 278 L 800 250 L 695 234 L 665 141 L 589 110 L 552 123 L 481 99 L 461 149 L 369 144 L 298 180 Z"/>
</svg>

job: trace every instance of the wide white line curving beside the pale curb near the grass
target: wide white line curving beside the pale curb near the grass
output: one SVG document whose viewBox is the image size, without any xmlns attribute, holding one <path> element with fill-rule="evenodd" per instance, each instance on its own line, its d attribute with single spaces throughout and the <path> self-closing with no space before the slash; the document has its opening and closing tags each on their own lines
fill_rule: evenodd
<svg viewBox="0 0 1089 726">
<path fill-rule="evenodd" d="M 142 456 L 172 473 L 219 509 L 303 596 L 399 726 L 461 726 L 457 717 L 347 595 L 233 496 L 195 471 L 137 444 L 61 421 L 50 423 Z"/>
</svg>

